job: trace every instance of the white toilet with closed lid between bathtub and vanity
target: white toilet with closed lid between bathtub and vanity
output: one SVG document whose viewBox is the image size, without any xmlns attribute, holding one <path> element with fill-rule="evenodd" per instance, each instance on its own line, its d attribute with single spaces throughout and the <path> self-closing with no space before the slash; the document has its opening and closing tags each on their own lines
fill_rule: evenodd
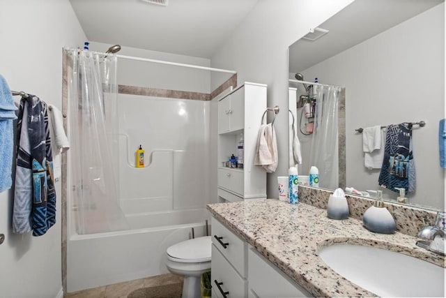
<svg viewBox="0 0 446 298">
<path fill-rule="evenodd" d="M 201 297 L 201 274 L 210 270 L 211 245 L 210 236 L 206 236 L 167 248 L 167 269 L 184 276 L 182 298 Z"/>
</svg>

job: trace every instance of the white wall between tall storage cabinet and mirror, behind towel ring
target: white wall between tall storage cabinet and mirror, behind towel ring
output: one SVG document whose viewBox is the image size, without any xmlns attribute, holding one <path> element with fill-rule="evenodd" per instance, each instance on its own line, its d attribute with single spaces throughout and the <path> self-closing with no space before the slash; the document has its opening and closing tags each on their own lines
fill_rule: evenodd
<svg viewBox="0 0 446 298">
<path fill-rule="evenodd" d="M 211 59 L 213 67 L 236 70 L 238 84 L 268 84 L 268 107 L 281 109 L 275 120 L 279 165 L 268 174 L 268 198 L 278 198 L 277 176 L 288 174 L 288 47 L 351 2 L 259 0 Z"/>
</svg>

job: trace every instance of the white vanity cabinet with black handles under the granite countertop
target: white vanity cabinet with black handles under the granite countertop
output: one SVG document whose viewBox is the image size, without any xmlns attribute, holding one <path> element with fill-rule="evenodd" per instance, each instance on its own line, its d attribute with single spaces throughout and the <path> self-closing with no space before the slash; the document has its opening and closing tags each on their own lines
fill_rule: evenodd
<svg viewBox="0 0 446 298">
<path fill-rule="evenodd" d="M 214 217 L 212 231 L 213 297 L 312 297 Z"/>
</svg>

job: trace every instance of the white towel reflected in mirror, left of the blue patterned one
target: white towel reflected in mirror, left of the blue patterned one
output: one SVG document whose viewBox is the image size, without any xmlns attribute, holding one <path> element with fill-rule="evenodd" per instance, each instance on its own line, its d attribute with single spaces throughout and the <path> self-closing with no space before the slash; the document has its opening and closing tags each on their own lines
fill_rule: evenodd
<svg viewBox="0 0 446 298">
<path fill-rule="evenodd" d="M 383 165 L 385 134 L 381 126 L 371 126 L 362 131 L 362 151 L 364 151 L 364 166 L 367 169 L 380 169 Z"/>
</svg>

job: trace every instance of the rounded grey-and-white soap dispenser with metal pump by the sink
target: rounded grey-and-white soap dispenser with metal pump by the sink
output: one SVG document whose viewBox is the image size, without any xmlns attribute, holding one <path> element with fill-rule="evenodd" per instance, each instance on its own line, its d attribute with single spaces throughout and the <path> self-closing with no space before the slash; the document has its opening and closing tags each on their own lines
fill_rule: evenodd
<svg viewBox="0 0 446 298">
<path fill-rule="evenodd" d="M 376 193 L 375 204 L 364 212 L 362 223 L 371 232 L 392 234 L 397 230 L 397 225 L 392 214 L 384 207 L 383 191 L 377 191 Z"/>
</svg>

